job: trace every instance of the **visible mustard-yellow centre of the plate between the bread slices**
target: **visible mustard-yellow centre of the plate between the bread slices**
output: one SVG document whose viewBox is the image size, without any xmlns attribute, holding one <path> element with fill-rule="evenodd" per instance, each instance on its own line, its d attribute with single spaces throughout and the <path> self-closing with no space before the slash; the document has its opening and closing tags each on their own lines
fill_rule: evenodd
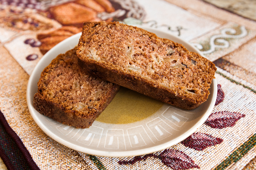
<svg viewBox="0 0 256 170">
<path fill-rule="evenodd" d="M 121 87 L 96 121 L 112 124 L 137 122 L 156 113 L 163 102 Z"/>
</svg>

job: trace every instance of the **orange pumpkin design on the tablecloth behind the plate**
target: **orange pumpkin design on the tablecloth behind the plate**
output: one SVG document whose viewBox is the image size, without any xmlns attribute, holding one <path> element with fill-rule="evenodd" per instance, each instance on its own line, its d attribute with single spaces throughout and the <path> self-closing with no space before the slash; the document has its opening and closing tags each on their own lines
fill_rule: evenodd
<svg viewBox="0 0 256 170">
<path fill-rule="evenodd" d="M 63 4 L 57 3 L 57 5 L 45 8 L 47 8 L 49 18 L 58 21 L 62 27 L 37 35 L 37 39 L 42 43 L 39 47 L 42 54 L 45 54 L 60 41 L 81 32 L 84 22 L 101 21 L 101 18 L 98 17 L 99 13 L 109 14 L 115 11 L 108 0 L 76 0 Z M 106 18 L 106 21 L 111 20 L 111 17 Z"/>
</svg>

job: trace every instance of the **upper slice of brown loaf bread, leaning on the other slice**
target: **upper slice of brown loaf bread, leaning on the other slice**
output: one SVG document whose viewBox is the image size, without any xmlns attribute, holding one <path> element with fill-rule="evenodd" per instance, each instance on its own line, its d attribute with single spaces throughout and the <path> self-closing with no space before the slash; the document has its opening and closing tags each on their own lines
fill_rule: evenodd
<svg viewBox="0 0 256 170">
<path fill-rule="evenodd" d="M 183 45 L 119 22 L 85 22 L 82 70 L 184 109 L 207 100 L 215 65 Z"/>
</svg>

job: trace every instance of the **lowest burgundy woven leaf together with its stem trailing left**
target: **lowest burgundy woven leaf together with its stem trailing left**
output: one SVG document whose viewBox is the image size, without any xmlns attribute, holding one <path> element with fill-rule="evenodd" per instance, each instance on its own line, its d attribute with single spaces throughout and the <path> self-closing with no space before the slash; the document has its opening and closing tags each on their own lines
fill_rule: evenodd
<svg viewBox="0 0 256 170">
<path fill-rule="evenodd" d="M 200 168 L 195 162 L 182 151 L 174 149 L 165 149 L 159 155 L 147 154 L 144 156 L 135 156 L 130 160 L 120 160 L 118 161 L 119 165 L 133 165 L 134 163 L 146 160 L 148 157 L 158 158 L 162 163 L 168 167 L 171 167 L 174 170 L 185 170 L 190 168 Z"/>
</svg>

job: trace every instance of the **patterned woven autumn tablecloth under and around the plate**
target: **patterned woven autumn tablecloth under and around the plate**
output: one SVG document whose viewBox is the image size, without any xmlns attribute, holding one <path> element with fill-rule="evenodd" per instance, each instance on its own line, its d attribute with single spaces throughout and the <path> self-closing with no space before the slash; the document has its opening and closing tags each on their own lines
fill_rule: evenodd
<svg viewBox="0 0 256 170">
<path fill-rule="evenodd" d="M 6 167 L 255 169 L 256 22 L 208 2 L 0 0 L 0 157 Z M 100 20 L 169 31 L 216 64 L 217 101 L 195 133 L 163 151 L 109 158 L 69 149 L 36 125 L 26 102 L 34 67 L 57 43 L 79 33 L 84 21 Z"/>
</svg>

